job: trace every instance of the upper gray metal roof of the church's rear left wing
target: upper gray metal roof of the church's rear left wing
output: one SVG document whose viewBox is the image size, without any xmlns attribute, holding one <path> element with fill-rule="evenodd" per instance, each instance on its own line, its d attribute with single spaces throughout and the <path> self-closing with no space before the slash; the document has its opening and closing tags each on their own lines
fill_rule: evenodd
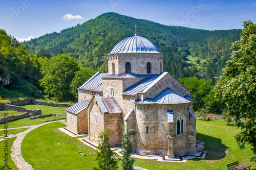
<svg viewBox="0 0 256 170">
<path fill-rule="evenodd" d="M 102 91 L 102 77 L 107 77 L 108 73 L 96 72 L 87 82 L 81 85 L 78 89 L 90 91 Z"/>
</svg>

